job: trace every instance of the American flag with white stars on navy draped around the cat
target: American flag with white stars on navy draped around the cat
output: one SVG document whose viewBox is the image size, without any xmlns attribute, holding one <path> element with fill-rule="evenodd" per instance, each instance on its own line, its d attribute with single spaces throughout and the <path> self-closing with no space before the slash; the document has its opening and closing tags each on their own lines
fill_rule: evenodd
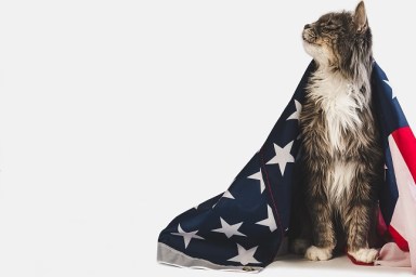
<svg viewBox="0 0 416 277">
<path fill-rule="evenodd" d="M 265 143 L 224 193 L 173 219 L 158 238 L 157 261 L 181 267 L 259 272 L 285 249 L 299 114 L 307 68 Z M 384 141 L 386 174 L 379 205 L 398 246 L 416 253 L 416 140 L 382 69 L 374 62 L 372 89 Z M 416 269 L 416 254 L 411 255 Z"/>
</svg>

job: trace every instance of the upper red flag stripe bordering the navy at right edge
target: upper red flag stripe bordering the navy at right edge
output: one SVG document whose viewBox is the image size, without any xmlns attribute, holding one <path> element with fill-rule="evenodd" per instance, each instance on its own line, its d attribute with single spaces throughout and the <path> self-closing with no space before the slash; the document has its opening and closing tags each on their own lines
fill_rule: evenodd
<svg viewBox="0 0 416 277">
<path fill-rule="evenodd" d="M 393 138 L 416 183 L 416 138 L 410 127 L 395 130 Z"/>
</svg>

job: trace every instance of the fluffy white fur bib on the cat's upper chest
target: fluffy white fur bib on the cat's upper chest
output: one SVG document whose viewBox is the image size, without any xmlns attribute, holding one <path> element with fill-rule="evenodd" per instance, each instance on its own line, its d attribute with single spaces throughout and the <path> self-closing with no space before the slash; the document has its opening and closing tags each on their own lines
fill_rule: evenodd
<svg viewBox="0 0 416 277">
<path fill-rule="evenodd" d="M 363 124 L 360 113 L 366 106 L 366 97 L 359 85 L 337 74 L 315 71 L 308 98 L 321 111 L 316 113 L 316 120 L 324 121 L 322 131 L 332 151 L 342 153 L 349 144 L 346 133 L 359 131 Z"/>
</svg>

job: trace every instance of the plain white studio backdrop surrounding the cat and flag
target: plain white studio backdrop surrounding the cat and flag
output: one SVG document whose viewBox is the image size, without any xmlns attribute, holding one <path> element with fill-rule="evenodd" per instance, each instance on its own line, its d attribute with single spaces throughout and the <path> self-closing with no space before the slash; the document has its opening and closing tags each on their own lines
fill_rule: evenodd
<svg viewBox="0 0 416 277">
<path fill-rule="evenodd" d="M 1 1 L 0 276 L 233 275 L 157 264 L 157 236 L 261 146 L 310 62 L 303 25 L 356 3 Z M 413 2 L 366 6 L 415 127 Z M 261 275 L 351 274 L 318 267 Z"/>
</svg>

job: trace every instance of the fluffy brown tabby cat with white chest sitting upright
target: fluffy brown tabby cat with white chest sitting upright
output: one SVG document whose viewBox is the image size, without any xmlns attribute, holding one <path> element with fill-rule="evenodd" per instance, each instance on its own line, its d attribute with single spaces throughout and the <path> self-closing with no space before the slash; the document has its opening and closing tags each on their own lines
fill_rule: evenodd
<svg viewBox="0 0 416 277">
<path fill-rule="evenodd" d="M 348 254 L 372 263 L 384 154 L 373 116 L 373 42 L 364 2 L 307 24 L 302 40 L 315 64 L 299 119 L 303 213 L 312 241 L 297 239 L 292 249 L 324 261 L 343 241 Z"/>
</svg>

